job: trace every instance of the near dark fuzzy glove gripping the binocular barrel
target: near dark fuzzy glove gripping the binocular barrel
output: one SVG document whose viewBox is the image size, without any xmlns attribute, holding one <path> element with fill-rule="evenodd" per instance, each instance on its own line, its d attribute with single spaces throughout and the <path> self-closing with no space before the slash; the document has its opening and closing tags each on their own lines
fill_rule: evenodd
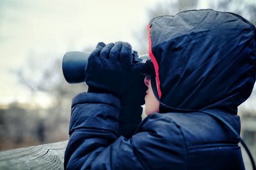
<svg viewBox="0 0 256 170">
<path fill-rule="evenodd" d="M 88 58 L 85 81 L 88 92 L 111 93 L 116 97 L 124 94 L 132 69 L 131 45 L 98 43 Z"/>
</svg>

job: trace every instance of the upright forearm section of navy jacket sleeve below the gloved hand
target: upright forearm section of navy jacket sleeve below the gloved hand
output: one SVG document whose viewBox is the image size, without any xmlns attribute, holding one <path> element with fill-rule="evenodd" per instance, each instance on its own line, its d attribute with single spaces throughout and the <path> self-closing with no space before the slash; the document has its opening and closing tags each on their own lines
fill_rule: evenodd
<svg viewBox="0 0 256 170">
<path fill-rule="evenodd" d="M 83 129 L 102 129 L 118 134 L 120 100 L 111 94 L 83 92 L 74 97 L 69 134 Z"/>
</svg>

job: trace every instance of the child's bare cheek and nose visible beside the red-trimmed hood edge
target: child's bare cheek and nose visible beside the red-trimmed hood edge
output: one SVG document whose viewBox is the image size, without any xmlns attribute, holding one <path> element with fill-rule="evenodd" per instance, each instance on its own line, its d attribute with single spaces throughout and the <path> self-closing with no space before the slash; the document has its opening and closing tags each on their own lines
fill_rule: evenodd
<svg viewBox="0 0 256 170">
<path fill-rule="evenodd" d="M 144 78 L 145 85 L 147 85 L 148 90 L 145 96 L 145 113 L 146 115 L 150 115 L 152 113 L 159 112 L 159 102 L 157 101 L 154 92 L 152 90 L 152 86 L 150 83 L 150 76 L 146 76 Z"/>
</svg>

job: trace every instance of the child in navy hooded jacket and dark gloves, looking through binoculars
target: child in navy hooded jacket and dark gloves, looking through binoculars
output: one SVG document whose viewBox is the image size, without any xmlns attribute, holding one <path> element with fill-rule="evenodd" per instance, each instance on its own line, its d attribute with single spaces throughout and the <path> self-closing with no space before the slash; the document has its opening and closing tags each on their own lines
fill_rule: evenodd
<svg viewBox="0 0 256 170">
<path fill-rule="evenodd" d="M 72 101 L 65 169 L 244 169 L 239 139 L 216 117 L 240 133 L 237 106 L 256 77 L 255 33 L 243 17 L 214 10 L 153 18 L 154 71 L 145 78 L 129 43 L 99 43 L 88 92 Z"/>
</svg>

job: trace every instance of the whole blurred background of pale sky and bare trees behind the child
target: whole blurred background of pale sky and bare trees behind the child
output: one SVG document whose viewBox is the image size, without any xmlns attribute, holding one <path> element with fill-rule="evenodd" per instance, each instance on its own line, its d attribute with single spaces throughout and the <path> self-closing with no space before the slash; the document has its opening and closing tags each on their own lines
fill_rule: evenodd
<svg viewBox="0 0 256 170">
<path fill-rule="evenodd" d="M 145 54 L 150 18 L 203 8 L 231 11 L 256 24 L 255 0 L 1 0 L 0 150 L 68 139 L 72 97 L 87 87 L 63 78 L 65 52 L 120 40 Z M 256 158 L 255 99 L 253 90 L 239 116 L 241 135 Z"/>
</svg>

